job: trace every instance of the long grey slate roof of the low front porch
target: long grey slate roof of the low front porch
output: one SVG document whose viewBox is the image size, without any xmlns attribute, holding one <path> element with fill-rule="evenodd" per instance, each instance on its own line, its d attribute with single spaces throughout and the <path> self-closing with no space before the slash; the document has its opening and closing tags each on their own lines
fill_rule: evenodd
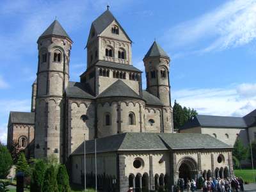
<svg viewBox="0 0 256 192">
<path fill-rule="evenodd" d="M 85 141 L 86 153 L 93 153 L 94 140 Z M 132 150 L 178 150 L 192 148 L 232 148 L 208 134 L 125 132 L 97 139 L 97 152 Z M 72 155 L 83 154 L 82 143 Z"/>
</svg>

